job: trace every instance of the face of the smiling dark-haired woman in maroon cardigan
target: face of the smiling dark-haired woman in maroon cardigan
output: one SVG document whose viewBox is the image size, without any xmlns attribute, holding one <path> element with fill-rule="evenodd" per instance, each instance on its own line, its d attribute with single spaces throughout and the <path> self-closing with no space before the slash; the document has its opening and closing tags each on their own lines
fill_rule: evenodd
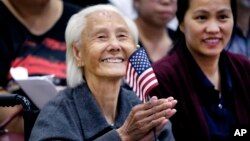
<svg viewBox="0 0 250 141">
<path fill-rule="evenodd" d="M 190 0 L 180 29 L 193 56 L 219 56 L 233 29 L 230 0 Z"/>
</svg>

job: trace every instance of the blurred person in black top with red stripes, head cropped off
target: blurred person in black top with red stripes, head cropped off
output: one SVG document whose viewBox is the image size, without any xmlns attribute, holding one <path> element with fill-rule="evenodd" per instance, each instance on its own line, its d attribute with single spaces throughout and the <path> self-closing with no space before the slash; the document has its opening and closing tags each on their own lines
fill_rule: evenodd
<svg viewBox="0 0 250 141">
<path fill-rule="evenodd" d="M 0 94 L 25 95 L 11 85 L 11 67 L 25 67 L 29 76 L 53 74 L 55 85 L 66 85 L 64 31 L 79 9 L 61 0 L 0 1 Z M 0 108 L 0 123 L 19 108 Z M 11 122 L 8 130 L 23 132 L 20 121 L 22 117 Z"/>
</svg>

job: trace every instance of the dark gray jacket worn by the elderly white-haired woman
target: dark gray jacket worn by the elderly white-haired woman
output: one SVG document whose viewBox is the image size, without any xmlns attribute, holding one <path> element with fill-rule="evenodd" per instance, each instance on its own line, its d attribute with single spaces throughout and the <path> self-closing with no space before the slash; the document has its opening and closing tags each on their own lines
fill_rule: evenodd
<svg viewBox="0 0 250 141">
<path fill-rule="evenodd" d="M 133 92 L 121 88 L 119 110 L 114 126 L 111 126 L 86 84 L 66 89 L 41 110 L 29 141 L 120 141 L 116 129 L 122 126 L 132 107 L 139 103 Z M 170 122 L 159 140 L 174 140 Z"/>
</svg>

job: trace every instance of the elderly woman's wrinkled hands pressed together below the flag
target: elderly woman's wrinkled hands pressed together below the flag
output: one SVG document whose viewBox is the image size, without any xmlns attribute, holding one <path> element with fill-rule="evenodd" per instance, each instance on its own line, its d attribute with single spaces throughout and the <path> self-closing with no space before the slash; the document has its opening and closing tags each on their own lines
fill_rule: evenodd
<svg viewBox="0 0 250 141">
<path fill-rule="evenodd" d="M 133 107 L 117 132 L 123 141 L 153 140 L 154 132 L 158 136 L 168 119 L 176 113 L 176 103 L 173 97 L 158 99 L 153 96 L 149 102 Z"/>
</svg>

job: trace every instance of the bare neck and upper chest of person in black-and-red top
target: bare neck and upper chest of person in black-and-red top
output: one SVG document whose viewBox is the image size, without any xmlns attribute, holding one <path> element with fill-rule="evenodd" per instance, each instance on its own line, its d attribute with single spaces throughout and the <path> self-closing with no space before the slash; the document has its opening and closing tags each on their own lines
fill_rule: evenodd
<svg viewBox="0 0 250 141">
<path fill-rule="evenodd" d="M 33 34 L 47 32 L 60 18 L 61 0 L 2 0 L 10 12 Z"/>
</svg>

